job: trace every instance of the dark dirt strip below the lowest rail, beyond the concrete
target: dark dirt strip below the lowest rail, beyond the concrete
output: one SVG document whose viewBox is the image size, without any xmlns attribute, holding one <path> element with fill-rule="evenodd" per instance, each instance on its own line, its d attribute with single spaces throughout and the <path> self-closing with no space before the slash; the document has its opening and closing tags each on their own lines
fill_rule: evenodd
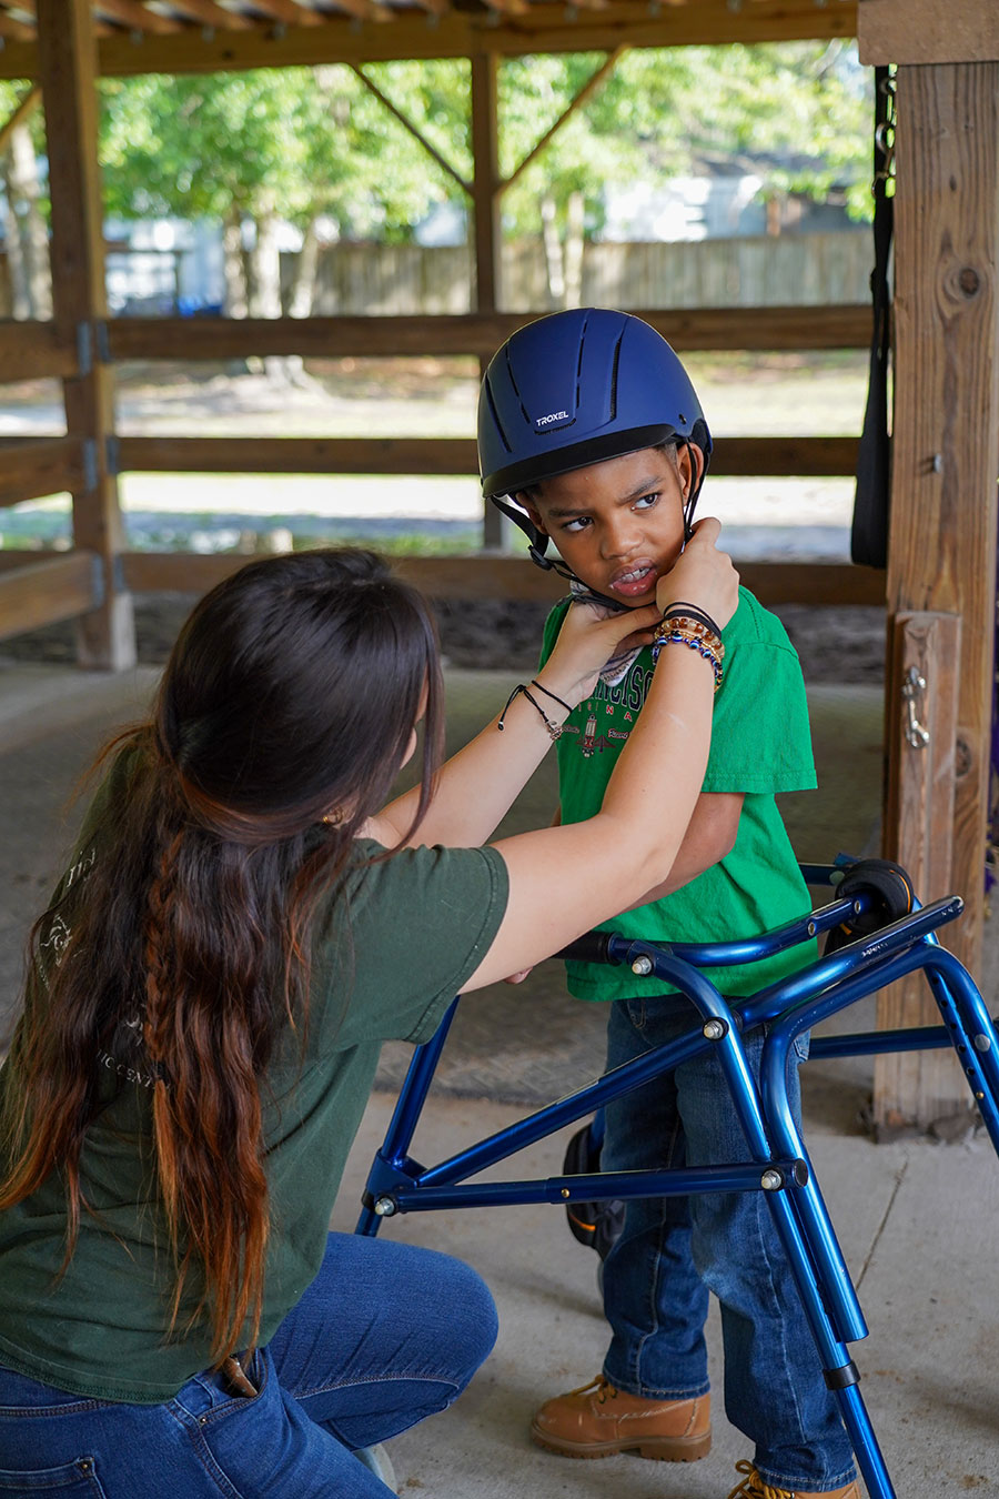
<svg viewBox="0 0 999 1499">
<path fill-rule="evenodd" d="M 162 666 L 195 603 L 192 594 L 138 594 L 135 619 L 139 661 Z M 884 679 L 884 612 L 879 609 L 774 610 L 801 657 L 806 682 L 876 685 Z M 436 615 L 445 660 L 451 666 L 533 670 L 547 615 L 545 604 L 496 600 L 439 600 Z M 72 624 L 48 625 L 0 645 L 18 661 L 75 660 Z"/>
</svg>

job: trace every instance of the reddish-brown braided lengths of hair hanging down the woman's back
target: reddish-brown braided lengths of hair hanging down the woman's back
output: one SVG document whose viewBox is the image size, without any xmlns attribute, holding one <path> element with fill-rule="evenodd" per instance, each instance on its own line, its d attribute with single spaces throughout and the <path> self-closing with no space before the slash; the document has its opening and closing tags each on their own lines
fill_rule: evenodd
<svg viewBox="0 0 999 1499">
<path fill-rule="evenodd" d="M 222 955 L 199 950 L 190 940 L 196 923 L 189 910 L 190 868 L 183 866 L 199 866 L 198 845 L 205 841 L 193 827 L 175 832 L 150 886 L 142 1033 L 156 1072 L 156 1160 L 177 1265 L 171 1325 L 178 1321 L 190 1276 L 198 1270 L 201 1289 L 187 1325 L 208 1310 L 213 1360 L 222 1360 L 235 1351 L 241 1336 L 255 1342 L 264 1289 L 268 1190 L 261 1162 L 259 1036 L 252 1003 L 258 953 L 240 950 L 240 937 L 244 949 L 255 949 L 262 932 L 253 934 L 253 922 L 246 922 L 231 934 Z M 220 850 L 213 848 L 211 856 L 219 859 Z M 246 863 L 246 854 L 235 862 L 235 880 L 243 889 L 226 890 L 226 896 L 232 898 L 229 908 L 252 913 L 256 901 L 247 887 Z M 199 974 L 201 982 L 190 982 L 189 974 Z M 213 1162 L 210 1171 L 205 1150 Z"/>
</svg>

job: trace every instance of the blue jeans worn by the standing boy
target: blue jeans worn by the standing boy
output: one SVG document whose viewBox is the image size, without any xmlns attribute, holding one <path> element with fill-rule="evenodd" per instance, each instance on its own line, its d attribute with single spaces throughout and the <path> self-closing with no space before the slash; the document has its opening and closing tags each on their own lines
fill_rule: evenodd
<svg viewBox="0 0 999 1499">
<path fill-rule="evenodd" d="M 687 1034 L 693 1006 L 677 995 L 611 1004 L 607 1064 L 617 1067 Z M 759 1031 L 744 1040 L 759 1075 Z M 801 1051 L 795 1063 L 807 1049 Z M 797 1064 L 788 1084 L 800 1117 Z M 605 1109 L 601 1168 L 705 1166 L 749 1160 L 711 1049 Z M 762 1192 L 696 1193 L 628 1204 L 625 1231 L 604 1262 L 613 1340 L 604 1363 L 619 1390 L 662 1400 L 705 1394 L 708 1292 L 722 1312 L 725 1412 L 755 1442 L 755 1463 L 777 1489 L 839 1489 L 854 1474 L 834 1397 Z"/>
</svg>

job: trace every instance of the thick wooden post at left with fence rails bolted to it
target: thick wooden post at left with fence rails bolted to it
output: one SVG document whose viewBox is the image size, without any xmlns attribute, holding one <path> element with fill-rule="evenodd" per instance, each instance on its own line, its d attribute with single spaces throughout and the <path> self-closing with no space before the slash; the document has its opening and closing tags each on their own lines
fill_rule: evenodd
<svg viewBox="0 0 999 1499">
<path fill-rule="evenodd" d="M 73 541 L 100 558 L 103 598 L 78 621 L 85 667 L 135 664 L 132 597 L 120 580 L 121 513 L 108 468 L 114 376 L 103 358 L 106 298 L 103 208 L 97 168 L 96 42 L 90 0 L 37 0 L 39 82 L 52 199 L 55 324 L 76 346 L 79 370 L 63 381 L 66 429 L 85 445 L 85 481 L 73 489 Z"/>
</svg>

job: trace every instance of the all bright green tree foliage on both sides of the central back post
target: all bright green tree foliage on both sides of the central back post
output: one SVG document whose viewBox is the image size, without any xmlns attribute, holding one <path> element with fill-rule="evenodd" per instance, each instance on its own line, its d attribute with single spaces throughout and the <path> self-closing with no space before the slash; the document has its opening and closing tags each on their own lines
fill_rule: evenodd
<svg viewBox="0 0 999 1499">
<path fill-rule="evenodd" d="M 502 64 L 503 177 L 602 61 L 565 54 Z M 346 64 L 105 81 L 109 211 L 252 219 L 259 243 L 279 216 L 306 234 L 324 216 L 341 237 L 403 241 L 436 202 L 467 208 L 455 181 L 472 174 L 467 63 L 380 63 L 365 75 L 395 114 Z M 870 73 L 852 43 L 626 52 L 503 193 L 503 225 L 512 235 L 544 231 L 554 274 L 560 256 L 578 265 L 574 238 L 599 231 L 607 183 L 656 187 L 719 159 L 756 174 L 767 199 L 822 199 L 836 186 L 849 211 L 866 216 Z"/>
</svg>

